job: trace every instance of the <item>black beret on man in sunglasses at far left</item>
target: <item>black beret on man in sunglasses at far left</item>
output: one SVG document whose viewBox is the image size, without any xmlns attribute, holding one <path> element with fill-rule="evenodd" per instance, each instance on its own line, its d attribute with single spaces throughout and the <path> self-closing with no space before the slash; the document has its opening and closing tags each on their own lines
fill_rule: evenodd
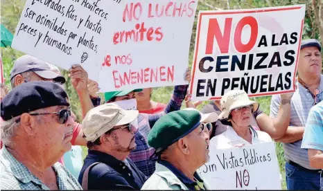
<svg viewBox="0 0 323 191">
<path fill-rule="evenodd" d="M 66 91 L 54 82 L 23 83 L 10 91 L 1 101 L 1 118 L 10 120 L 37 109 L 57 105 L 69 106 Z"/>
</svg>

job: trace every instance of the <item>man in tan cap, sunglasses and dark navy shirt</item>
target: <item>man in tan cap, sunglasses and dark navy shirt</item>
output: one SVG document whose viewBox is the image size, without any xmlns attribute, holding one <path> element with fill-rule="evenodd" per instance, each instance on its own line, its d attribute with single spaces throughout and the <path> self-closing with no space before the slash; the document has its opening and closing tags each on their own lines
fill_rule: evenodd
<svg viewBox="0 0 323 191">
<path fill-rule="evenodd" d="M 84 190 L 140 190 L 146 176 L 128 158 L 136 147 L 138 113 L 113 103 L 87 113 L 82 129 L 89 152 L 78 177 Z"/>
</svg>

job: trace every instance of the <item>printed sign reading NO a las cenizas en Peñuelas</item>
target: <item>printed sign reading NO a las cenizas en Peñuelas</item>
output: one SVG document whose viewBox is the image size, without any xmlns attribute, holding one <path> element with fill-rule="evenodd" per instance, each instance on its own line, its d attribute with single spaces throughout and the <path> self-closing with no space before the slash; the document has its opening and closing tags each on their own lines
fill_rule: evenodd
<svg viewBox="0 0 323 191">
<path fill-rule="evenodd" d="M 219 100 L 242 89 L 249 96 L 295 91 L 305 5 L 200 11 L 190 93 Z"/>
</svg>

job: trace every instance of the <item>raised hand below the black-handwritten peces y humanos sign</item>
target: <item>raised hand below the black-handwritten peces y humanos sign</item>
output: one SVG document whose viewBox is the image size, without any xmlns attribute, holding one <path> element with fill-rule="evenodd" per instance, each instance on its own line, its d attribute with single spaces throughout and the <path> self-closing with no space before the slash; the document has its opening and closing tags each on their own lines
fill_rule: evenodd
<svg viewBox="0 0 323 191">
<path fill-rule="evenodd" d="M 78 93 L 87 91 L 87 71 L 82 66 L 75 64 L 69 69 L 69 78 Z"/>
</svg>

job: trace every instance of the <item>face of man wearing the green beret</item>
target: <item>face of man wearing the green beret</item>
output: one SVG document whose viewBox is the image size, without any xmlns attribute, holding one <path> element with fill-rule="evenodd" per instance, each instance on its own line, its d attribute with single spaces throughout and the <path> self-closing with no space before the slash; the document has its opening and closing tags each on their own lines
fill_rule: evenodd
<svg viewBox="0 0 323 191">
<path fill-rule="evenodd" d="M 209 161 L 209 131 L 202 124 L 187 137 L 189 139 L 189 154 L 202 166 Z"/>
</svg>

